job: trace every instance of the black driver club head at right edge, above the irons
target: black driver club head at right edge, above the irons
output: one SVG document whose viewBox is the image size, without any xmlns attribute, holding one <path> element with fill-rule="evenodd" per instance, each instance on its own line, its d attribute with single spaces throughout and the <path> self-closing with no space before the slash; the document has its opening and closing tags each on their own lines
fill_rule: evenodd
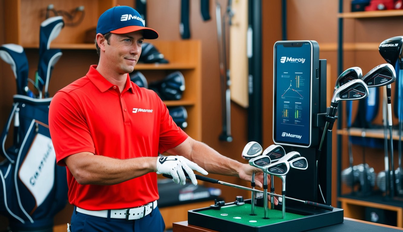
<svg viewBox="0 0 403 232">
<path fill-rule="evenodd" d="M 379 54 L 396 68 L 397 62 L 403 58 L 403 36 L 395 36 L 385 39 L 379 44 Z"/>
</svg>

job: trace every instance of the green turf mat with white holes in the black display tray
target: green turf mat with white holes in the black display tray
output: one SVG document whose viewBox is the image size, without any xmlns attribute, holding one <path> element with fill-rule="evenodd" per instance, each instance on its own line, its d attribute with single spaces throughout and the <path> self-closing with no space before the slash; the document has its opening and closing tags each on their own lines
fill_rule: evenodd
<svg viewBox="0 0 403 232">
<path fill-rule="evenodd" d="M 283 212 L 277 209 L 268 209 L 268 217 L 270 219 L 263 219 L 264 209 L 263 207 L 255 206 L 255 216 L 249 215 L 251 213 L 251 205 L 226 205 L 221 207 L 220 210 L 216 209 L 206 209 L 202 211 L 197 211 L 197 213 L 202 213 L 216 218 L 221 218 L 222 220 L 228 220 L 231 222 L 237 222 L 249 226 L 265 226 L 269 224 L 274 224 L 278 222 L 285 222 L 288 220 L 294 220 L 298 218 L 305 217 L 304 215 L 298 215 L 295 213 L 285 212 L 285 219 L 283 219 Z M 227 215 L 225 215 L 227 214 Z M 256 221 L 256 222 L 255 222 Z"/>
</svg>

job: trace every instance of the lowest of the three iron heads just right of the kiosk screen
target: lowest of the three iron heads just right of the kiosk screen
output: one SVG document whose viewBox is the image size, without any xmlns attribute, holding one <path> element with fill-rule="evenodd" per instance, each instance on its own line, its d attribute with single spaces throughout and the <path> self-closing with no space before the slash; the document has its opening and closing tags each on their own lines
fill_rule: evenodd
<svg viewBox="0 0 403 232">
<path fill-rule="evenodd" d="M 332 103 L 342 100 L 359 100 L 368 96 L 368 87 L 361 79 L 355 79 L 342 85 L 333 93 Z"/>
</svg>

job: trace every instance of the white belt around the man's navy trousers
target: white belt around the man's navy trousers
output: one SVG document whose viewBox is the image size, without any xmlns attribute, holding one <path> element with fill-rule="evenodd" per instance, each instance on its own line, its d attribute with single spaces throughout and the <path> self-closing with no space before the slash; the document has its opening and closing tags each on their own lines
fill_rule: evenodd
<svg viewBox="0 0 403 232">
<path fill-rule="evenodd" d="M 100 211 L 91 211 L 76 207 L 77 212 L 84 213 L 101 218 L 108 218 L 108 211 L 110 211 L 110 218 L 126 218 L 127 220 L 136 220 L 143 218 L 151 213 L 157 207 L 157 200 L 131 209 L 105 209 Z"/>
</svg>

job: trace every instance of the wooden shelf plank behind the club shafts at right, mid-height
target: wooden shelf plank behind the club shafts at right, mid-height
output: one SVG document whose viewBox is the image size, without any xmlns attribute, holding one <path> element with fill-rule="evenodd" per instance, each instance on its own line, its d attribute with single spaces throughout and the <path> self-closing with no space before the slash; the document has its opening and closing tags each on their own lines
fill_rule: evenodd
<svg viewBox="0 0 403 232">
<path fill-rule="evenodd" d="M 399 140 L 399 130 L 397 129 L 392 129 L 392 139 L 393 140 Z M 350 135 L 350 136 L 356 136 L 356 137 L 367 137 L 367 138 L 376 138 L 376 139 L 384 139 L 384 129 L 383 128 L 356 128 L 356 127 L 351 127 L 349 131 L 347 128 L 337 130 L 338 135 Z M 388 138 L 389 138 L 389 129 L 387 131 Z"/>
</svg>

